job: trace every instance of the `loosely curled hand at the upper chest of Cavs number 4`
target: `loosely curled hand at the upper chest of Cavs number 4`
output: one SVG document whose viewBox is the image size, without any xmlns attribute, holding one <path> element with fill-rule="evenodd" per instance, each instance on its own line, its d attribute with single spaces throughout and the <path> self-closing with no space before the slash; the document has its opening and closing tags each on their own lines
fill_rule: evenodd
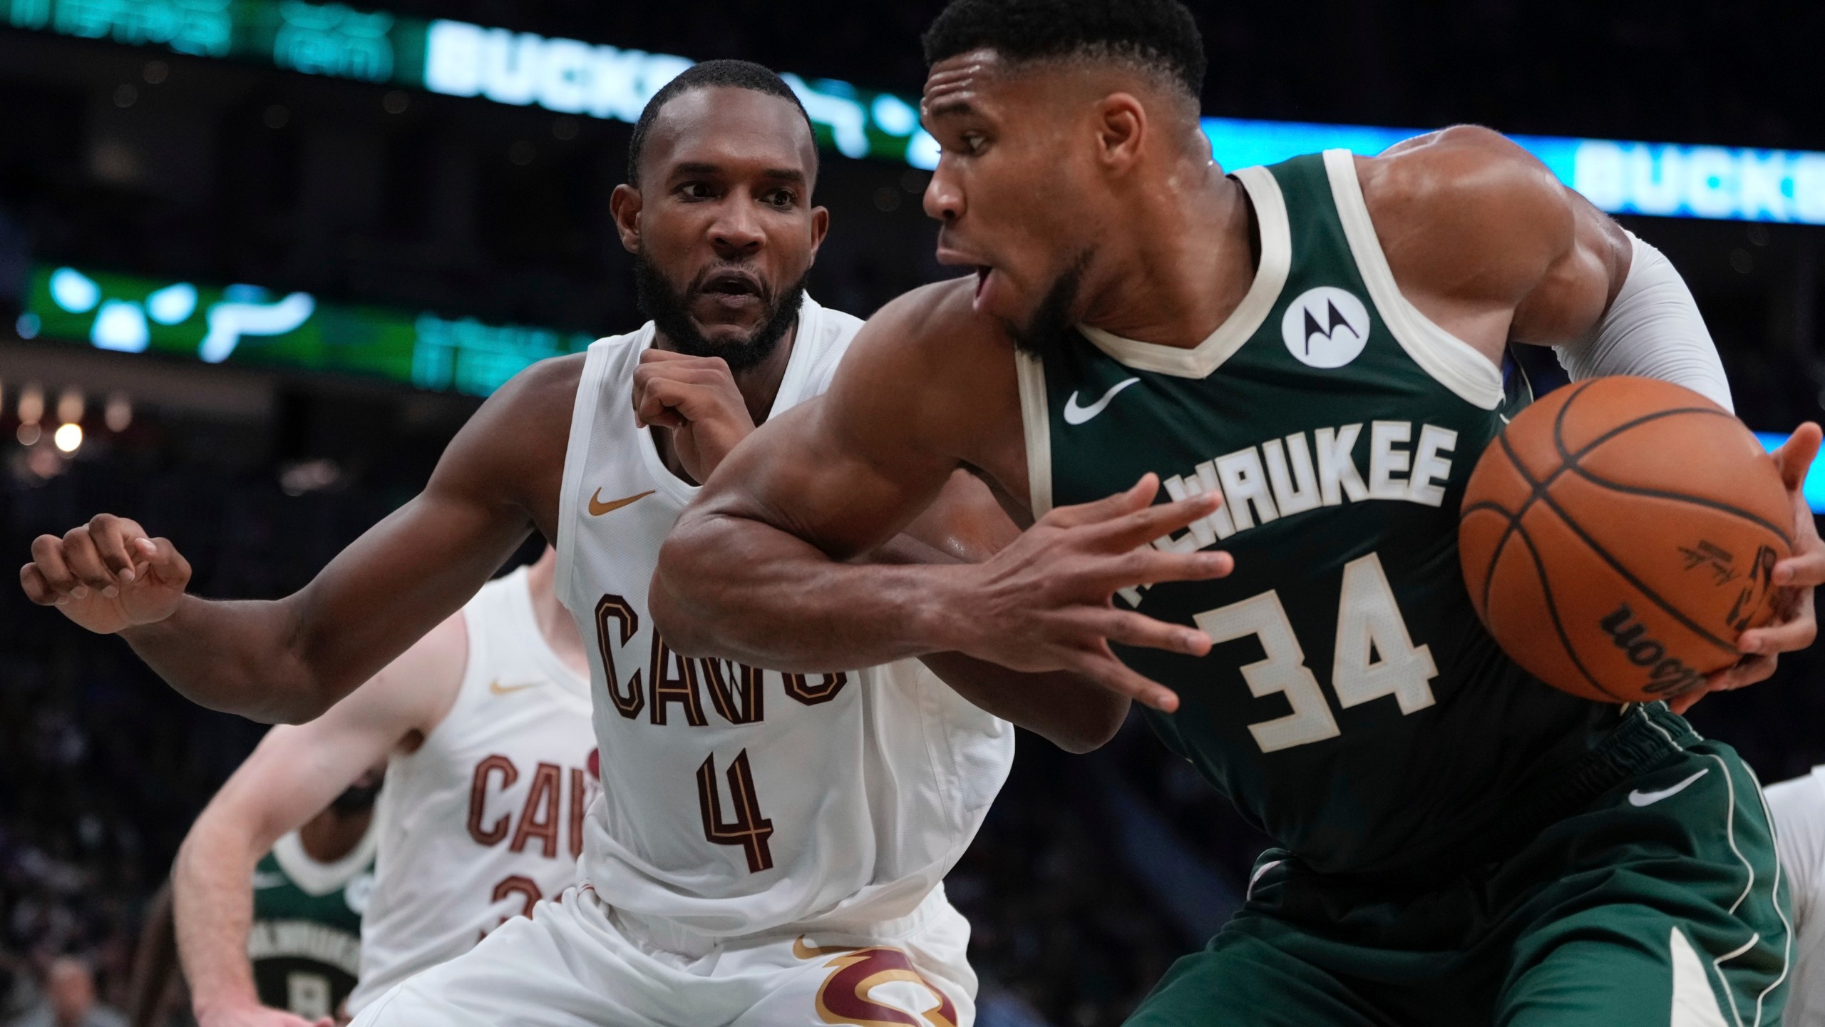
<svg viewBox="0 0 1825 1027">
<path fill-rule="evenodd" d="M 633 418 L 672 429 L 684 473 L 703 482 L 750 433 L 754 418 L 721 356 L 648 349 L 633 369 Z"/>
</svg>

